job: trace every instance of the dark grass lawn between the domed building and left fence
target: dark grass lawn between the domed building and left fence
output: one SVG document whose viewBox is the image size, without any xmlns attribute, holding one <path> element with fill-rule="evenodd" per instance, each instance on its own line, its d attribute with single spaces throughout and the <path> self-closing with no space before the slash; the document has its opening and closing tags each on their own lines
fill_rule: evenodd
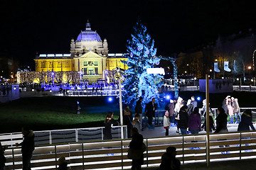
<svg viewBox="0 0 256 170">
<path fill-rule="evenodd" d="M 119 115 L 114 103 L 106 98 L 33 97 L 20 98 L 1 103 L 0 132 L 20 132 L 27 125 L 33 130 L 54 130 L 63 128 L 87 128 L 103 126 L 107 111 Z M 76 102 L 80 102 L 80 114 L 76 114 Z"/>
</svg>

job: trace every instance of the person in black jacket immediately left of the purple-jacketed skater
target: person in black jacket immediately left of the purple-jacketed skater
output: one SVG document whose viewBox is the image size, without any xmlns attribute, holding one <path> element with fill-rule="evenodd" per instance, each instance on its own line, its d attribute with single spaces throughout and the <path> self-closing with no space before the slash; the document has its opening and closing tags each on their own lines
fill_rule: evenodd
<svg viewBox="0 0 256 170">
<path fill-rule="evenodd" d="M 182 106 L 181 110 L 178 112 L 179 120 L 178 120 L 178 128 L 181 130 L 182 135 L 187 134 L 188 129 L 188 106 Z"/>
</svg>

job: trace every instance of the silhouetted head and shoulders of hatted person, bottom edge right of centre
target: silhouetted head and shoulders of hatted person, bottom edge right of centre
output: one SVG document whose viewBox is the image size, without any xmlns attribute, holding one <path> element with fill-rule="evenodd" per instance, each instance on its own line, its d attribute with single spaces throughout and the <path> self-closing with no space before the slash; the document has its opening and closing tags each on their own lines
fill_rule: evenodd
<svg viewBox="0 0 256 170">
<path fill-rule="evenodd" d="M 160 170 L 179 170 L 181 162 L 176 159 L 176 147 L 167 147 L 166 153 L 161 157 Z"/>
</svg>

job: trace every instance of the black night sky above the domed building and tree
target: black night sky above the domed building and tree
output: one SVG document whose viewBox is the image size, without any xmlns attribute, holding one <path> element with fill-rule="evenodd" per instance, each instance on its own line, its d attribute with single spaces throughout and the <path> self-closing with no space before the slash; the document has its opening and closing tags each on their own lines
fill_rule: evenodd
<svg viewBox="0 0 256 170">
<path fill-rule="evenodd" d="M 252 1 L 253 2 L 253 1 Z M 255 6 L 247 1 L 1 1 L 1 53 L 34 67 L 36 52 L 69 53 L 70 40 L 87 20 L 110 53 L 127 52 L 138 16 L 155 40 L 157 55 L 171 56 L 218 35 L 256 30 Z"/>
</svg>

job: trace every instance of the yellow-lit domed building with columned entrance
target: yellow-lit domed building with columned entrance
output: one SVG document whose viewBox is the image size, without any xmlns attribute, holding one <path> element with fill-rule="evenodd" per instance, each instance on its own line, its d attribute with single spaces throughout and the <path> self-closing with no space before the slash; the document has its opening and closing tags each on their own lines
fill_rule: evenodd
<svg viewBox="0 0 256 170">
<path fill-rule="evenodd" d="M 91 30 L 90 23 L 81 31 L 77 40 L 70 42 L 70 54 L 40 54 L 36 56 L 36 72 L 81 72 L 82 79 L 90 83 L 105 79 L 104 71 L 116 67 L 128 69 L 121 60 L 122 53 L 109 54 L 107 40 Z"/>
</svg>

